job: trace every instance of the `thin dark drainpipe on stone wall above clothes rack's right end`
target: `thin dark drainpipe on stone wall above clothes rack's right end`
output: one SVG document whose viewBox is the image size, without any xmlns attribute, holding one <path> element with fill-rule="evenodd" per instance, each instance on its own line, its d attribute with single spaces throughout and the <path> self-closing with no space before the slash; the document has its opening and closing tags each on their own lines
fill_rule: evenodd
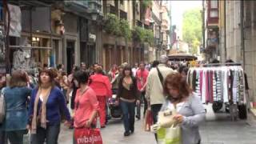
<svg viewBox="0 0 256 144">
<path fill-rule="evenodd" d="M 241 27 L 241 56 L 242 56 L 242 66 L 245 70 L 246 67 L 246 50 L 245 50 L 245 38 L 243 33 L 243 17 L 244 17 L 244 1 L 240 1 L 240 27 Z"/>
</svg>

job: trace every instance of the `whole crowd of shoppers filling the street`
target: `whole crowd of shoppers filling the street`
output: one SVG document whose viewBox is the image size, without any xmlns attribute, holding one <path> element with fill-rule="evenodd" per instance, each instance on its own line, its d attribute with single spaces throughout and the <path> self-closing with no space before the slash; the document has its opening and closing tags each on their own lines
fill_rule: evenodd
<svg viewBox="0 0 256 144">
<path fill-rule="evenodd" d="M 115 105 L 122 110 L 124 136 L 134 133 L 135 118 L 141 119 L 141 107 L 151 110 L 154 123 L 159 111 L 175 108 L 174 120 L 182 130 L 182 144 L 201 142 L 199 126 L 205 120 L 205 110 L 196 94 L 186 83 L 187 65 L 170 65 L 166 55 L 150 64 L 113 65 L 106 73 L 103 66 L 86 63 L 73 66 L 67 74 L 64 65 L 57 69 L 44 66 L 38 83 L 25 71 L 16 70 L 1 78 L 0 86 L 6 101 L 6 118 L 0 125 L 1 142 L 22 143 L 31 132 L 33 144 L 56 144 L 61 123 L 70 129 L 106 127 L 109 115 L 107 102 L 117 95 Z M 1 75 L 0 75 L 1 77 Z M 5 81 L 5 82 L 2 82 Z M 6 84 L 7 83 L 7 84 Z M 68 109 L 70 107 L 70 110 Z M 155 135 L 158 140 L 157 135 Z M 0 143 L 1 143 L 0 142 Z"/>
</svg>

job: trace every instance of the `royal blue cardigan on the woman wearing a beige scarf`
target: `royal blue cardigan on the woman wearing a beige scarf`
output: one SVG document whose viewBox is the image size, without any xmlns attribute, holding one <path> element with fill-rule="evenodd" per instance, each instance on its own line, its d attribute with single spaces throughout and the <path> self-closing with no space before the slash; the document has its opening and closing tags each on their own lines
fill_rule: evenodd
<svg viewBox="0 0 256 144">
<path fill-rule="evenodd" d="M 38 87 L 32 90 L 31 100 L 30 100 L 30 109 L 29 116 L 32 118 L 34 114 L 34 100 L 38 93 Z M 40 106 L 42 105 L 41 100 L 38 101 L 38 112 Z M 46 121 L 47 125 L 57 125 L 61 122 L 61 112 L 62 111 L 66 117 L 66 120 L 70 121 L 70 112 L 66 107 L 66 102 L 62 90 L 59 90 L 58 87 L 54 87 L 50 90 L 49 98 L 46 102 Z M 30 118 L 28 118 L 28 122 Z"/>
</svg>

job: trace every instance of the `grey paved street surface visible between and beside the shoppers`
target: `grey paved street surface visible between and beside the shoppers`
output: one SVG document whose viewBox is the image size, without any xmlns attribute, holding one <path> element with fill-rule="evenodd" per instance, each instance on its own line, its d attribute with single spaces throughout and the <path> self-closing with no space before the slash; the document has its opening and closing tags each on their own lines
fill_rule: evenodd
<svg viewBox="0 0 256 144">
<path fill-rule="evenodd" d="M 248 120 L 232 122 L 229 114 L 207 114 L 207 121 L 200 127 L 202 144 L 255 144 L 256 119 L 250 114 Z M 217 120 L 213 120 L 215 117 Z M 104 144 L 156 144 L 154 134 L 142 130 L 143 120 L 136 120 L 135 132 L 129 137 L 123 136 L 121 120 L 110 120 L 102 129 Z M 71 144 L 73 130 L 62 127 L 60 144 Z"/>
</svg>

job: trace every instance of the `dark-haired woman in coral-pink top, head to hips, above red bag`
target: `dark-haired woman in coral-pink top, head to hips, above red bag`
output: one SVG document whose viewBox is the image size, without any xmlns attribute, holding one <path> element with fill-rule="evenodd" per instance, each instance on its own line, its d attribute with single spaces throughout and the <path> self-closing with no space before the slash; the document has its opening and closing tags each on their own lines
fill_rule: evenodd
<svg viewBox="0 0 256 144">
<path fill-rule="evenodd" d="M 74 128 L 95 126 L 99 110 L 94 90 L 87 86 L 89 74 L 78 70 L 74 73 L 74 84 L 79 87 L 74 100 Z"/>
</svg>

